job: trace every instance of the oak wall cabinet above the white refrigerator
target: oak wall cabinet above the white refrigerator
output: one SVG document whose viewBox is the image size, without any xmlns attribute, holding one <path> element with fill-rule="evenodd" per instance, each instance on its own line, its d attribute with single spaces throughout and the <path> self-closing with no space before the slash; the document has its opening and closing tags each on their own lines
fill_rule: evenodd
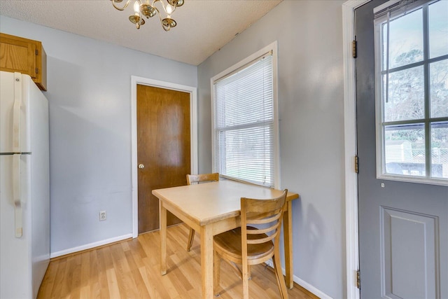
<svg viewBox="0 0 448 299">
<path fill-rule="evenodd" d="M 28 74 L 47 90 L 47 55 L 40 41 L 0 33 L 0 70 Z"/>
</svg>

